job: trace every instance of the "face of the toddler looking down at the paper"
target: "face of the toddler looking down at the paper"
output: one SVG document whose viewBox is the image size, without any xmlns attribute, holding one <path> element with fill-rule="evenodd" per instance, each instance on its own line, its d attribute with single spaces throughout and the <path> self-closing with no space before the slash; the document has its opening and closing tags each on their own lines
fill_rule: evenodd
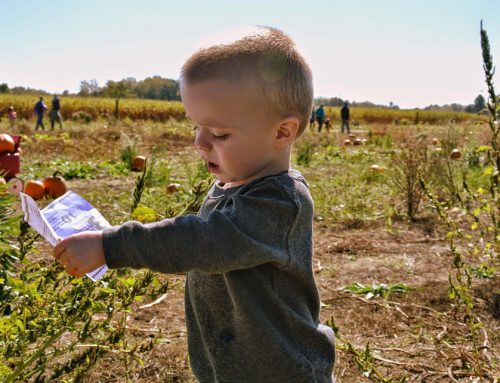
<svg viewBox="0 0 500 383">
<path fill-rule="evenodd" d="M 276 124 L 255 106 L 250 90 L 221 80 L 183 84 L 186 113 L 197 125 L 195 146 L 208 170 L 225 187 L 273 174 L 282 163 Z"/>
</svg>

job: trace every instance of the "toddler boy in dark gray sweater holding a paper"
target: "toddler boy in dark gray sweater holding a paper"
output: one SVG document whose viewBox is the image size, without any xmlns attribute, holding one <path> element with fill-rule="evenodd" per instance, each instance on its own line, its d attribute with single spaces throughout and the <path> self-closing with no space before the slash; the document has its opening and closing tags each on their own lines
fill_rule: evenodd
<svg viewBox="0 0 500 383">
<path fill-rule="evenodd" d="M 331 382 L 333 334 L 319 323 L 313 202 L 290 152 L 311 115 L 311 71 L 274 28 L 194 53 L 181 96 L 217 179 L 198 215 L 127 222 L 62 240 L 81 277 L 110 268 L 187 273 L 189 360 L 200 382 Z"/>
</svg>

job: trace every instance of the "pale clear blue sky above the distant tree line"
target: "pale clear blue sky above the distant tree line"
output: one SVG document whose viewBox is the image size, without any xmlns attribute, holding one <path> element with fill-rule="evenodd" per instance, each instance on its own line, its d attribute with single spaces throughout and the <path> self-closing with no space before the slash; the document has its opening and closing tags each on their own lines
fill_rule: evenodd
<svg viewBox="0 0 500 383">
<path fill-rule="evenodd" d="M 269 25 L 297 42 L 316 96 L 468 104 L 485 94 L 481 19 L 500 65 L 499 15 L 499 0 L 1 0 L 0 83 L 75 92 L 81 80 L 177 78 L 207 35 Z"/>
</svg>

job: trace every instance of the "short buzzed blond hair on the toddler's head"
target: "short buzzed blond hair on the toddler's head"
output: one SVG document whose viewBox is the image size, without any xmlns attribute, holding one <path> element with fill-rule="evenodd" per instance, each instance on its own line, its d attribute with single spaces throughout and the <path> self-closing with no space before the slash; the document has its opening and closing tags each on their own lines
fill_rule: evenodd
<svg viewBox="0 0 500 383">
<path fill-rule="evenodd" d="M 311 70 L 289 36 L 276 28 L 259 30 L 262 33 L 195 52 L 182 66 L 181 83 L 222 79 L 250 86 L 267 112 L 299 120 L 298 137 L 312 111 Z"/>
</svg>

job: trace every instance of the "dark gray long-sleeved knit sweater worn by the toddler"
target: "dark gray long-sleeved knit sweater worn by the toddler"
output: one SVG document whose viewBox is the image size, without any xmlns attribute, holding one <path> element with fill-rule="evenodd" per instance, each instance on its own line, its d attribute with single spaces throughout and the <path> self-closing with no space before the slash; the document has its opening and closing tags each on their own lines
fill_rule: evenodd
<svg viewBox="0 0 500 383">
<path fill-rule="evenodd" d="M 200 382 L 331 382 L 329 328 L 312 272 L 313 203 L 290 170 L 223 189 L 197 216 L 103 234 L 110 268 L 184 273 L 191 367 Z"/>
</svg>

